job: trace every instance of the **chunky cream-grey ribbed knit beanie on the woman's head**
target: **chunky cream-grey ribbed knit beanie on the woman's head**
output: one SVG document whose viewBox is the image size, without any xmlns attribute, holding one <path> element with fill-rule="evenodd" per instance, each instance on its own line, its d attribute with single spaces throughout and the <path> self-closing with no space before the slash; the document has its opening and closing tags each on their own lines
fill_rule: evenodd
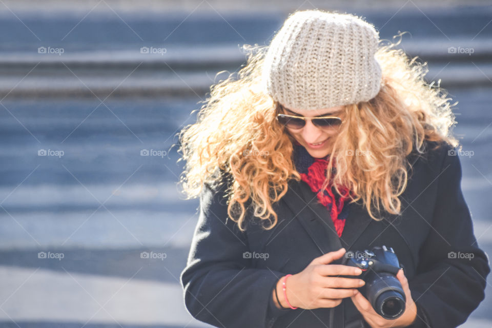
<svg viewBox="0 0 492 328">
<path fill-rule="evenodd" d="M 374 98 L 381 67 L 374 57 L 379 35 L 351 15 L 297 11 L 278 31 L 265 54 L 262 84 L 285 107 L 322 109 Z"/>
</svg>

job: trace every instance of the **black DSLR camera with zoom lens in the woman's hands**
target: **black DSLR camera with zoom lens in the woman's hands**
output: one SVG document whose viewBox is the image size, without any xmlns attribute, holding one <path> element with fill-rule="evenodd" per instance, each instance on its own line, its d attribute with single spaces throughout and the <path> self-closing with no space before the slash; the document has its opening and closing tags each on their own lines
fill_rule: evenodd
<svg viewBox="0 0 492 328">
<path fill-rule="evenodd" d="M 395 251 L 385 245 L 372 251 L 349 251 L 343 265 L 362 270 L 358 278 L 365 281 L 359 292 L 371 303 L 377 314 L 385 319 L 396 319 L 405 312 L 405 292 L 396 277 L 400 263 Z M 343 276 L 354 278 L 354 276 Z"/>
</svg>

